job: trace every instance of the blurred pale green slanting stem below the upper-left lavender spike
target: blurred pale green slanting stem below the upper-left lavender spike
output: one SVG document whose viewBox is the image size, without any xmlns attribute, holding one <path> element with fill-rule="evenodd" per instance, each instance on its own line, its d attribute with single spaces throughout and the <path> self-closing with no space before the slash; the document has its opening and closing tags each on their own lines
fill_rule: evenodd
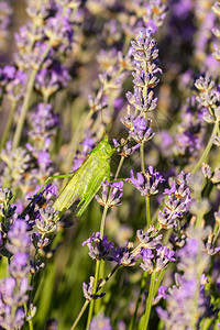
<svg viewBox="0 0 220 330">
<path fill-rule="evenodd" d="M 15 129 L 15 133 L 14 133 L 14 138 L 13 138 L 13 144 L 12 144 L 13 150 L 16 148 L 20 144 L 21 134 L 22 134 L 24 121 L 25 121 L 25 118 L 26 118 L 26 112 L 28 112 L 28 109 L 29 109 L 29 102 L 30 102 L 30 99 L 31 99 L 31 94 L 32 94 L 32 90 L 33 90 L 36 73 L 37 73 L 37 70 L 35 70 L 35 69 L 32 70 L 30 79 L 29 79 L 29 84 L 26 86 L 26 92 L 25 92 L 23 106 L 21 108 L 21 113 L 20 113 L 20 117 L 19 117 L 19 121 L 18 121 L 18 124 L 16 124 L 16 129 Z"/>
</svg>

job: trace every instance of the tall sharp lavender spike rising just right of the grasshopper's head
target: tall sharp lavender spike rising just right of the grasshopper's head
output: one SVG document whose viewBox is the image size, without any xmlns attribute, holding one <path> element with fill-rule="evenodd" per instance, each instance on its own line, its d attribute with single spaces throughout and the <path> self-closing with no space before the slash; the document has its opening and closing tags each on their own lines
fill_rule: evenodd
<svg viewBox="0 0 220 330">
<path fill-rule="evenodd" d="M 135 72 L 133 73 L 134 94 L 128 92 L 127 98 L 135 109 L 135 116 L 131 114 L 128 106 L 128 116 L 121 122 L 130 129 L 129 138 L 136 143 L 144 143 L 154 136 L 151 129 L 151 120 L 145 120 L 145 114 L 156 108 L 157 99 L 154 98 L 153 88 L 158 84 L 157 73 L 162 73 L 157 65 L 158 50 L 151 38 L 151 29 L 141 30 L 136 41 L 132 41 L 132 55 L 134 57 Z"/>
</svg>

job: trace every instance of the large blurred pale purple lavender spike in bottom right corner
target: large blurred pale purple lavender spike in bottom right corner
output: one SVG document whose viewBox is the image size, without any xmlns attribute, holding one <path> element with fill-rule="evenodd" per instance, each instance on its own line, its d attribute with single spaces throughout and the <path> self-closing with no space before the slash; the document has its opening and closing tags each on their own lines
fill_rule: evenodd
<svg viewBox="0 0 220 330">
<path fill-rule="evenodd" d="M 204 282 L 200 275 L 209 263 L 209 257 L 202 255 L 202 243 L 199 239 L 188 239 L 177 256 L 180 258 L 176 274 L 176 285 L 168 290 L 167 310 L 157 307 L 157 314 L 166 327 L 182 329 L 199 324 L 202 317 L 213 315 L 209 298 L 205 295 Z M 202 276 L 204 278 L 204 276 Z"/>
</svg>

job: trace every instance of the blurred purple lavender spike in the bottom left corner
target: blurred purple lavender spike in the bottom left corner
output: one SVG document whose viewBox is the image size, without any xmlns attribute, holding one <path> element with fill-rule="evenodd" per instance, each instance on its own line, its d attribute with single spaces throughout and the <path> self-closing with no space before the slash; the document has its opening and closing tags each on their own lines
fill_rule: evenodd
<svg viewBox="0 0 220 330">
<path fill-rule="evenodd" d="M 13 254 L 9 265 L 11 277 L 0 283 L 0 326 L 6 329 L 18 329 L 24 323 L 23 304 L 28 301 L 28 292 L 31 289 L 26 277 L 31 240 L 26 230 L 24 220 L 18 219 L 8 232 L 9 243 L 6 246 Z"/>
</svg>

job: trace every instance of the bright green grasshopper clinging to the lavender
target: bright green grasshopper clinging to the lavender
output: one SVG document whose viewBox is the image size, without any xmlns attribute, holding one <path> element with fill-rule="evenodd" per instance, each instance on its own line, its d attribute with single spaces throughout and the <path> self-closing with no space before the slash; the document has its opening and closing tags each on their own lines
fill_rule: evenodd
<svg viewBox="0 0 220 330">
<path fill-rule="evenodd" d="M 84 163 L 74 174 L 51 176 L 46 179 L 36 196 L 43 190 L 47 183 L 54 178 L 72 177 L 68 184 L 64 187 L 62 193 L 56 198 L 53 208 L 58 211 L 57 220 L 70 206 L 80 198 L 78 207 L 80 206 L 77 217 L 80 217 L 88 207 L 91 199 L 98 193 L 100 183 L 110 180 L 110 158 L 116 152 L 108 139 L 105 138 L 99 144 L 88 154 Z M 33 199 L 33 200 L 34 200 Z M 33 201 L 32 200 L 32 201 Z"/>
</svg>

